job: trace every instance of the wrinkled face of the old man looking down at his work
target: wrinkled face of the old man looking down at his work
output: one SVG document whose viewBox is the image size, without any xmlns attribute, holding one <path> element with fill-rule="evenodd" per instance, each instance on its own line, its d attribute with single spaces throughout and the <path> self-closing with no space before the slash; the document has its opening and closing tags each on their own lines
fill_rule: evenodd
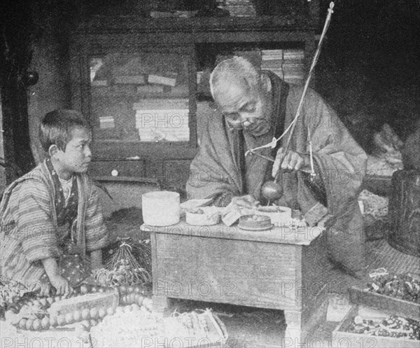
<svg viewBox="0 0 420 348">
<path fill-rule="evenodd" d="M 268 92 L 251 88 L 244 78 L 221 83 L 216 103 L 228 125 L 259 137 L 271 127 Z"/>
</svg>

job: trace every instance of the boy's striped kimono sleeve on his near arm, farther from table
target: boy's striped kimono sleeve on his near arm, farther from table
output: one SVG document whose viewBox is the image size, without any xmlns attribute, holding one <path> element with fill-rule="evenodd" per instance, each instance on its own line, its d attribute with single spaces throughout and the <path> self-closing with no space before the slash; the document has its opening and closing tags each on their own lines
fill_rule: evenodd
<svg viewBox="0 0 420 348">
<path fill-rule="evenodd" d="M 50 197 L 40 181 L 25 181 L 18 193 L 15 207 L 17 239 L 30 261 L 60 256 L 57 234 L 52 222 Z"/>
</svg>

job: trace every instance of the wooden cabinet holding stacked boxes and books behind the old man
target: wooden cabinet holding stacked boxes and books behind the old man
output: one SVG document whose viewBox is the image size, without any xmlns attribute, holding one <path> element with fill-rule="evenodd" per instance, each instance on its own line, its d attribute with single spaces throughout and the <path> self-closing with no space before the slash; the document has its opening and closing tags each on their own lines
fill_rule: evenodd
<svg viewBox="0 0 420 348">
<path fill-rule="evenodd" d="M 308 24 L 309 23 L 309 24 Z M 72 107 L 94 128 L 98 161 L 133 158 L 153 163 L 172 186 L 167 168 L 176 163 L 188 178 L 200 134 L 220 117 L 209 93 L 209 74 L 223 57 L 246 55 L 262 69 L 276 52 L 279 76 L 296 53 L 290 78 L 299 83 L 314 53 L 314 26 L 281 18 L 94 18 L 71 36 Z M 271 50 L 271 51 L 270 51 Z M 148 167 L 148 165 L 146 165 Z M 147 169 L 147 168 L 146 168 Z M 169 180 L 168 182 L 166 182 Z M 176 185 L 185 182 L 176 179 Z"/>
</svg>

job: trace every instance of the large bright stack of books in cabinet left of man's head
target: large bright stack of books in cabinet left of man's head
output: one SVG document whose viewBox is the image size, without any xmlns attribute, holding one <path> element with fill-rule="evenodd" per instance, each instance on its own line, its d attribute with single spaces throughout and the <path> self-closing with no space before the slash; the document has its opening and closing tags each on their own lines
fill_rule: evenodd
<svg viewBox="0 0 420 348">
<path fill-rule="evenodd" d="M 188 99 L 144 99 L 133 105 L 140 141 L 188 141 Z"/>
</svg>

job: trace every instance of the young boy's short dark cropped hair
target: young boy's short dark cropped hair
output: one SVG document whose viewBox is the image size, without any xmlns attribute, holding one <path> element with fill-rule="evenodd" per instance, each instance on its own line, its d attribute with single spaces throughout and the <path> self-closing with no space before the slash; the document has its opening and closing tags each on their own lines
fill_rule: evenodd
<svg viewBox="0 0 420 348">
<path fill-rule="evenodd" d="M 48 152 L 51 145 L 65 151 L 71 140 L 71 131 L 75 128 L 85 128 L 91 131 L 90 124 L 78 111 L 57 109 L 45 115 L 39 127 L 39 140 L 44 151 Z"/>
</svg>

